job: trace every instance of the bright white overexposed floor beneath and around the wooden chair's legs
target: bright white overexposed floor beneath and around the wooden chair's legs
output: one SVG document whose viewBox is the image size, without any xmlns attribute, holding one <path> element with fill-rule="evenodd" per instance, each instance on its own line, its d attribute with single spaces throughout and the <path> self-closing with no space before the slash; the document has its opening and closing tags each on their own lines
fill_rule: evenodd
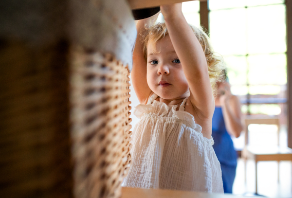
<svg viewBox="0 0 292 198">
<path fill-rule="evenodd" d="M 280 182 L 277 182 L 277 162 L 258 162 L 258 194 L 269 198 L 292 198 L 292 163 L 280 162 Z M 255 193 L 255 162 L 247 162 L 247 182 L 244 182 L 244 162 L 237 162 L 236 178 L 233 185 L 235 195 Z"/>
</svg>

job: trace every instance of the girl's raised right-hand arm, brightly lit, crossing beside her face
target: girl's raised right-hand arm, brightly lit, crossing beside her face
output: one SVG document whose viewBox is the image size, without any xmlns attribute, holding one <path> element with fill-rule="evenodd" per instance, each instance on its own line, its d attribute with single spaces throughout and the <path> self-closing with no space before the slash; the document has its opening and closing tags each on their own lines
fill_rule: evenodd
<svg viewBox="0 0 292 198">
<path fill-rule="evenodd" d="M 215 103 L 201 44 L 183 16 L 182 3 L 163 5 L 161 12 L 173 47 L 182 63 L 190 89 L 191 103 L 198 117 L 210 120 Z"/>
</svg>

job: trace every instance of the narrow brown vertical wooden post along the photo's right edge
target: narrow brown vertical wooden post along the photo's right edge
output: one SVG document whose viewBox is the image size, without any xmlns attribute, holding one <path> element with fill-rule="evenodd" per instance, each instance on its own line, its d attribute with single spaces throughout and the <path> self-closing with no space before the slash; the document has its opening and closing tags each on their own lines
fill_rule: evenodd
<svg viewBox="0 0 292 198">
<path fill-rule="evenodd" d="M 292 148 L 292 0 L 286 0 L 287 13 L 287 97 L 288 146 Z"/>
</svg>

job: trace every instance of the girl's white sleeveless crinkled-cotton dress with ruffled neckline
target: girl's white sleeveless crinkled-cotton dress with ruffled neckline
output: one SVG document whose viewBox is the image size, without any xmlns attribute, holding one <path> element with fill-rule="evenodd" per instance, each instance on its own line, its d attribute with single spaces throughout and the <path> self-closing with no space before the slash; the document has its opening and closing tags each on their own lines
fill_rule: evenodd
<svg viewBox="0 0 292 198">
<path fill-rule="evenodd" d="M 212 145 L 201 133 L 194 116 L 157 102 L 153 94 L 134 115 L 141 120 L 133 130 L 132 164 L 125 187 L 223 193 L 220 163 Z"/>
</svg>

